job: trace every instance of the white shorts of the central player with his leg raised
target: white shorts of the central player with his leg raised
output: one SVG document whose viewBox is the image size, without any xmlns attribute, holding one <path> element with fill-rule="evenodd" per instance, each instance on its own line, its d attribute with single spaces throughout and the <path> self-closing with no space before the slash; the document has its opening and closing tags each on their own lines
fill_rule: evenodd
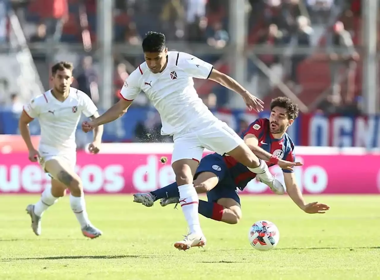
<svg viewBox="0 0 380 280">
<path fill-rule="evenodd" d="M 173 141 L 172 164 L 183 159 L 200 161 L 205 148 L 224 155 L 244 143 L 232 128 L 220 120 L 196 131 L 176 134 Z"/>
</svg>

